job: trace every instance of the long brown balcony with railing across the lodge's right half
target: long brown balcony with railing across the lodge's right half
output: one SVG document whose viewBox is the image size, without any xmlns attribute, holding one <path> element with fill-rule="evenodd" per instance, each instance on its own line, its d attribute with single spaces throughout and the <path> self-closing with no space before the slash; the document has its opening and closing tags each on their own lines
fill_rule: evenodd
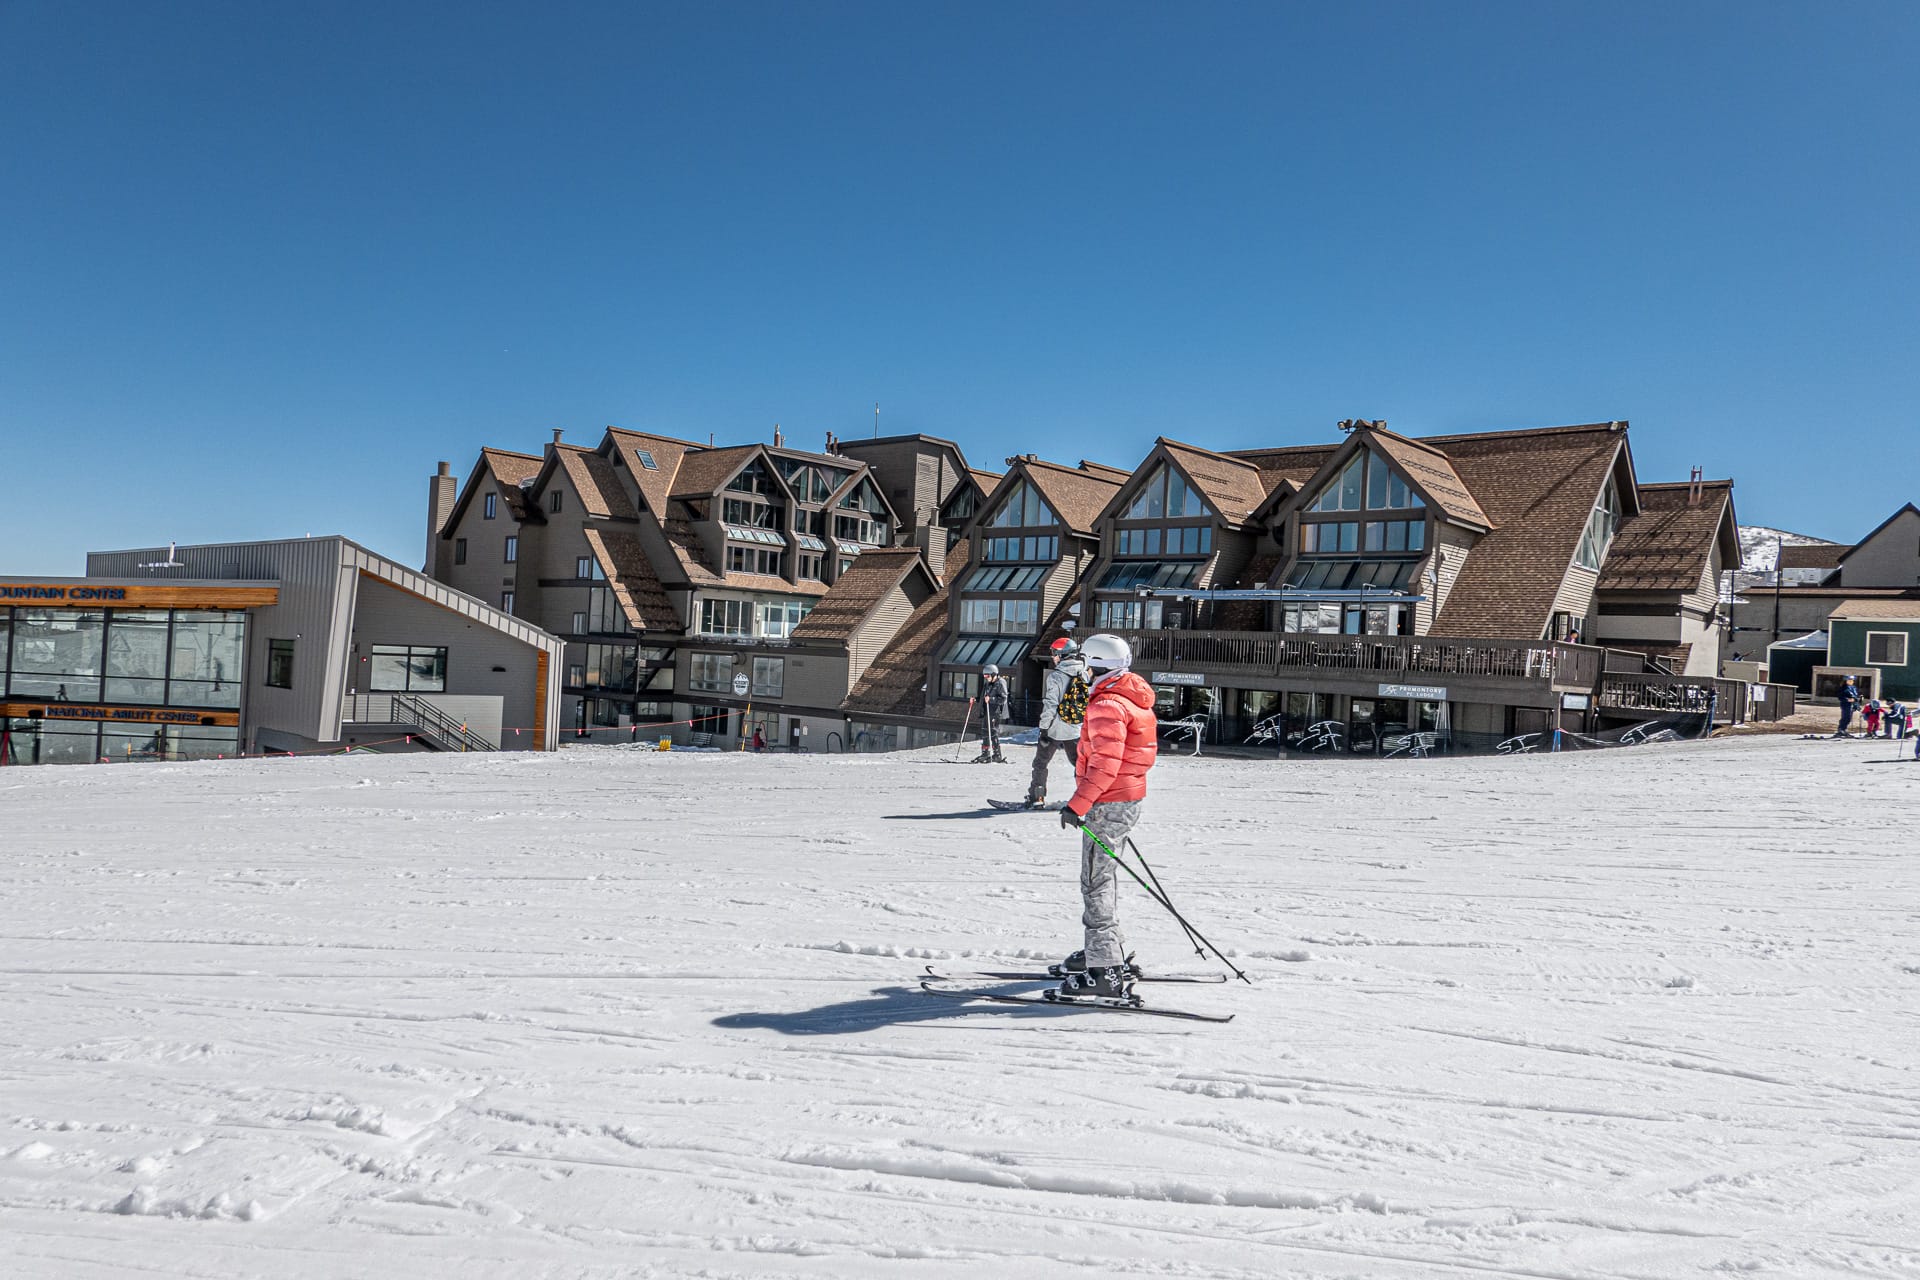
<svg viewBox="0 0 1920 1280">
<path fill-rule="evenodd" d="M 1592 693 L 1599 683 L 1599 649 L 1557 641 L 1459 639 L 1432 635 L 1331 635 L 1281 631 L 1121 631 L 1135 670 L 1179 670 L 1235 677 L 1352 676 L 1356 681 L 1523 683 L 1538 693 Z M 1148 672 L 1150 674 L 1150 672 Z M 1405 679 L 1402 679 L 1405 677 Z M 1459 681 L 1448 681 L 1459 683 Z M 1455 695 L 1461 697 L 1461 695 Z"/>
</svg>

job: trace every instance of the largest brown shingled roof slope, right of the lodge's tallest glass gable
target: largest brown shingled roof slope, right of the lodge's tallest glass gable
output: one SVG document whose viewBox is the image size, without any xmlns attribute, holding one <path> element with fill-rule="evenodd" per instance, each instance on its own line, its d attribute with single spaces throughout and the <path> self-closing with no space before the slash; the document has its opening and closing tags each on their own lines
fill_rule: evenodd
<svg viewBox="0 0 1920 1280">
<path fill-rule="evenodd" d="M 1432 635 L 1546 633 L 1607 474 L 1622 462 L 1624 422 L 1475 436 L 1428 436 L 1496 526 L 1467 555 Z M 1626 462 L 1630 466 L 1630 462 Z M 1622 486 L 1634 514 L 1632 486 Z"/>
</svg>

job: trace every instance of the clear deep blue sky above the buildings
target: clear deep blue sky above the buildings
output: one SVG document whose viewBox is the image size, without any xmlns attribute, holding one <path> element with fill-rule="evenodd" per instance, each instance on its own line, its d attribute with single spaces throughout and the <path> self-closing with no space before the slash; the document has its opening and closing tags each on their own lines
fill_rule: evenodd
<svg viewBox="0 0 1920 1280">
<path fill-rule="evenodd" d="M 1920 6 L 0 0 L 0 572 L 607 424 L 1131 464 L 1626 418 L 1920 497 Z"/>
</svg>

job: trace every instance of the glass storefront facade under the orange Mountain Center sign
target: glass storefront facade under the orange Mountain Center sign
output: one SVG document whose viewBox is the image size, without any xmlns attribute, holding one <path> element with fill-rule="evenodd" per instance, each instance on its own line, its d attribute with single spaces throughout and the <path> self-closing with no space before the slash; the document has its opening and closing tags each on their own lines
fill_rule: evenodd
<svg viewBox="0 0 1920 1280">
<path fill-rule="evenodd" d="M 244 658 L 244 610 L 0 608 L 0 766 L 236 754 L 180 712 L 234 720 Z"/>
</svg>

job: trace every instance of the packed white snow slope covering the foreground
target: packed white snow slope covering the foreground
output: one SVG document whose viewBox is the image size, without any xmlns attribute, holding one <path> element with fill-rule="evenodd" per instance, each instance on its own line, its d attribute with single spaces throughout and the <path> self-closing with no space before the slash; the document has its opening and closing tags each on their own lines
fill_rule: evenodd
<svg viewBox="0 0 1920 1280">
<path fill-rule="evenodd" d="M 1893 745 L 1167 756 L 1229 1025 L 947 754 L 0 771 L 4 1272 L 1920 1276 Z"/>
</svg>

